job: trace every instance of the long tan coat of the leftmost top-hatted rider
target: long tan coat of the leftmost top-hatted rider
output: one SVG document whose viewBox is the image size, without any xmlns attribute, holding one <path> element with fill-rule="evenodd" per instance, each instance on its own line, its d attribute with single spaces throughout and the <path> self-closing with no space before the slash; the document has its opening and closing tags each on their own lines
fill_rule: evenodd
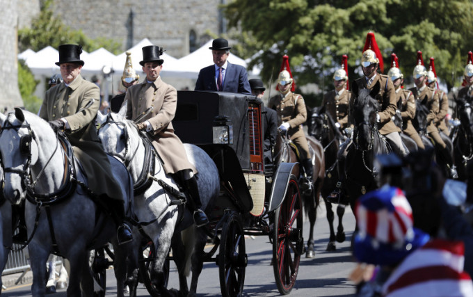
<svg viewBox="0 0 473 297">
<path fill-rule="evenodd" d="M 90 99 L 92 106 L 78 113 Z M 67 138 L 73 146 L 74 154 L 88 177 L 88 187 L 97 195 L 123 200 L 120 185 L 111 174 L 111 165 L 97 136 L 95 117 L 99 111 L 100 94 L 95 83 L 84 80 L 79 74 L 69 86 L 60 83 L 46 91 L 40 117 L 44 120 L 65 118 L 70 126 Z"/>
</svg>

